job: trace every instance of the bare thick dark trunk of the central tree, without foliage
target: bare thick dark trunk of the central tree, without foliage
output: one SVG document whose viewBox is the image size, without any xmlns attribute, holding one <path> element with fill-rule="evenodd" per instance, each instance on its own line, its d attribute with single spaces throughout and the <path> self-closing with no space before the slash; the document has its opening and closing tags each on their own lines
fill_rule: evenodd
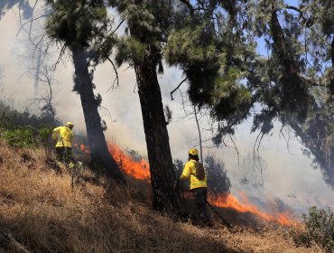
<svg viewBox="0 0 334 253">
<path fill-rule="evenodd" d="M 145 59 L 149 58 L 147 56 Z M 150 163 L 153 208 L 158 211 L 178 212 L 181 209 L 181 201 L 179 192 L 173 189 L 176 175 L 172 164 L 156 64 L 152 59 L 146 62 L 135 62 L 135 74 Z"/>
</svg>

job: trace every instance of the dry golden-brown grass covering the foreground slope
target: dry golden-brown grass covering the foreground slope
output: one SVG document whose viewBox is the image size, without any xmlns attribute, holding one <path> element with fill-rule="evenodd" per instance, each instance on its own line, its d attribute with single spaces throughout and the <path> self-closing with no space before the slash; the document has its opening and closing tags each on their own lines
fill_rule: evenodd
<svg viewBox="0 0 334 253">
<path fill-rule="evenodd" d="M 32 252 L 321 252 L 295 248 L 282 228 L 174 221 L 151 209 L 143 182 L 119 186 L 86 172 L 72 190 L 70 175 L 53 171 L 46 156 L 0 144 L 0 230 Z M 0 236 L 0 252 L 14 249 Z"/>
</svg>

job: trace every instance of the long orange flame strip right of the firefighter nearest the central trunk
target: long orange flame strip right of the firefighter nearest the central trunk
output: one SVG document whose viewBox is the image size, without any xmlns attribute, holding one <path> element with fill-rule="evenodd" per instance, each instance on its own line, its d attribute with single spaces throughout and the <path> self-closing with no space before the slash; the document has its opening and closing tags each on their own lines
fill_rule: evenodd
<svg viewBox="0 0 334 253">
<path fill-rule="evenodd" d="M 278 212 L 276 215 L 265 213 L 264 211 L 260 211 L 254 204 L 248 201 L 246 195 L 243 192 L 240 194 L 243 200 L 246 201 L 245 203 L 238 201 L 237 197 L 233 196 L 232 194 L 229 194 L 227 197 L 218 196 L 215 199 L 209 197 L 209 201 L 217 207 L 231 208 L 239 212 L 251 212 L 266 221 L 274 221 L 284 226 L 292 226 L 296 223 L 296 220 L 293 220 L 289 217 L 288 212 Z"/>
</svg>

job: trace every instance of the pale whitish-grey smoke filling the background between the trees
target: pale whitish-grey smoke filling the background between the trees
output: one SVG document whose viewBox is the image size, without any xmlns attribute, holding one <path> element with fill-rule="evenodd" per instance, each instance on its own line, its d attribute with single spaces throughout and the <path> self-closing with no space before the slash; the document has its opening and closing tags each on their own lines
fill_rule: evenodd
<svg viewBox="0 0 334 253">
<path fill-rule="evenodd" d="M 5 98 L 14 108 L 33 110 L 34 78 L 25 73 L 29 59 L 23 55 L 29 52 L 27 34 L 19 31 L 19 16 L 16 8 L 8 11 L 0 20 L 0 70 L 1 98 Z M 57 48 L 54 48 L 54 59 L 57 59 Z M 25 73 L 25 74 L 24 74 Z M 109 63 L 97 66 L 94 83 L 101 94 L 100 113 L 107 122 L 105 132 L 108 142 L 116 143 L 122 148 L 130 148 L 146 155 L 143 119 L 137 88 L 135 71 L 128 66 L 118 70 L 119 87 L 110 89 L 116 75 Z M 165 69 L 159 75 L 162 89 L 162 102 L 172 109 L 172 122 L 167 126 L 173 159 L 186 161 L 187 152 L 192 146 L 198 147 L 198 130 L 196 122 L 185 117 L 180 92 L 175 92 L 171 99 L 170 92 L 183 80 L 180 70 Z M 72 121 L 75 133 L 85 133 L 84 117 L 79 96 L 71 91 L 73 87 L 73 66 L 70 58 L 58 65 L 53 92 L 54 106 L 57 115 L 63 122 Z M 40 86 L 40 89 L 42 87 Z M 187 84 L 181 89 L 185 91 Z M 280 134 L 280 123 L 276 122 L 272 136 L 264 136 L 259 148 L 262 162 L 260 167 L 252 159 L 257 133 L 250 134 L 252 120 L 247 120 L 237 127 L 235 141 L 237 150 L 228 146 L 204 148 L 204 156 L 214 157 L 225 164 L 232 189 L 231 192 L 247 192 L 263 200 L 280 198 L 295 209 L 306 211 L 311 205 L 334 209 L 334 191 L 322 179 L 320 170 L 314 170 L 311 159 L 302 155 L 302 145 L 293 133 Z M 290 136 L 289 140 L 286 138 Z M 211 146 L 209 143 L 206 146 Z M 229 143 L 232 145 L 232 143 Z M 287 148 L 289 146 L 289 148 Z M 246 177 L 250 183 L 243 185 L 240 179 Z M 259 183 L 264 182 L 264 187 Z"/>
</svg>

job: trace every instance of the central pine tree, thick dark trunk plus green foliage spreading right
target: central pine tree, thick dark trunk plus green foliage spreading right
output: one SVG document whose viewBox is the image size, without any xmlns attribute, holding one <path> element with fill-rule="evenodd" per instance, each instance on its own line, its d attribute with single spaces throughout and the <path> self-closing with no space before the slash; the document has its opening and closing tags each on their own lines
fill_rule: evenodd
<svg viewBox="0 0 334 253">
<path fill-rule="evenodd" d="M 180 210 L 180 197 L 173 190 L 176 176 L 157 79 L 157 72 L 163 70 L 162 59 L 184 71 L 194 103 L 209 104 L 212 111 L 223 110 L 215 117 L 218 120 L 223 119 L 223 114 L 228 117 L 226 132 L 233 132 L 232 125 L 248 115 L 251 105 L 250 93 L 236 83 L 245 76 L 242 68 L 246 65 L 236 56 L 237 52 L 228 51 L 228 46 L 238 37 L 228 37 L 231 41 L 225 43 L 226 34 L 217 33 L 217 26 L 224 21 L 219 1 L 193 2 L 109 1 L 126 21 L 126 34 L 116 43 L 116 62 L 118 65 L 128 62 L 135 69 L 152 178 L 153 208 L 160 211 Z M 213 16 L 217 16 L 214 21 Z"/>
</svg>

